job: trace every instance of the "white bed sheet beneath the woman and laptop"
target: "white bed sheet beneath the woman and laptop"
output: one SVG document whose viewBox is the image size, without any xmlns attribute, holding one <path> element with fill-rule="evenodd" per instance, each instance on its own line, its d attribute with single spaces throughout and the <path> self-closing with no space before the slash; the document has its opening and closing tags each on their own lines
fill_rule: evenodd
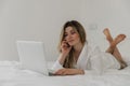
<svg viewBox="0 0 130 86">
<path fill-rule="evenodd" d="M 103 75 L 46 76 L 17 69 L 16 61 L 0 62 L 0 86 L 130 86 L 130 66 Z"/>
</svg>

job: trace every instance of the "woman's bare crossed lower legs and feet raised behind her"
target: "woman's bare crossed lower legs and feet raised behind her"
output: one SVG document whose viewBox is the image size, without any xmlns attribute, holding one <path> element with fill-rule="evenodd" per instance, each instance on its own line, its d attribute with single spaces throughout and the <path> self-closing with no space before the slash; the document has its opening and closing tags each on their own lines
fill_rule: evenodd
<svg viewBox="0 0 130 86">
<path fill-rule="evenodd" d="M 112 55 L 115 56 L 115 58 L 120 62 L 121 69 L 127 67 L 127 63 L 123 61 L 121 54 L 119 53 L 118 48 L 116 45 L 121 42 L 126 35 L 125 34 L 119 34 L 115 40 L 113 40 L 109 30 L 106 28 L 104 29 L 104 34 L 106 35 L 107 41 L 109 42 L 110 46 L 107 48 L 107 53 L 110 53 Z"/>
</svg>

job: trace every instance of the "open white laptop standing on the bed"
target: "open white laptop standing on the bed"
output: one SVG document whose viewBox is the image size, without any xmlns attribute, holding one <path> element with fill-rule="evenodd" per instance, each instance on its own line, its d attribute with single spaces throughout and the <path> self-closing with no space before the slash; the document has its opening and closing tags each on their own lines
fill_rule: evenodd
<svg viewBox="0 0 130 86">
<path fill-rule="evenodd" d="M 53 70 L 49 70 L 47 66 L 43 42 L 16 41 L 16 45 L 23 69 L 53 75 Z"/>
</svg>

